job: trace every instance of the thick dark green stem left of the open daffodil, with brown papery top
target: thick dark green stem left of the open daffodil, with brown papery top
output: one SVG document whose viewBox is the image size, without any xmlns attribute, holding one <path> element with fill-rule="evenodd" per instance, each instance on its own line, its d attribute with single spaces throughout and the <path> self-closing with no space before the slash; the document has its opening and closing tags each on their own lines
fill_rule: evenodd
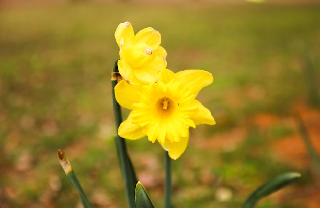
<svg viewBox="0 0 320 208">
<path fill-rule="evenodd" d="M 112 98 L 113 98 L 113 112 L 115 113 L 115 122 L 116 122 L 116 131 L 118 132 L 118 128 L 122 123 L 122 114 L 121 107 L 115 98 L 115 86 L 118 83 L 120 74 L 118 71 L 118 60 L 115 62 L 115 65 L 112 69 L 111 75 L 111 84 L 112 84 Z M 117 149 L 117 155 L 119 160 L 119 165 L 122 173 L 122 177 L 124 180 L 125 192 L 127 197 L 127 202 L 129 208 L 135 208 L 135 186 L 138 182 L 136 178 L 134 168 L 132 166 L 131 160 L 127 153 L 127 146 L 125 139 L 120 137 L 118 134 L 115 137 L 115 144 Z"/>
</svg>

